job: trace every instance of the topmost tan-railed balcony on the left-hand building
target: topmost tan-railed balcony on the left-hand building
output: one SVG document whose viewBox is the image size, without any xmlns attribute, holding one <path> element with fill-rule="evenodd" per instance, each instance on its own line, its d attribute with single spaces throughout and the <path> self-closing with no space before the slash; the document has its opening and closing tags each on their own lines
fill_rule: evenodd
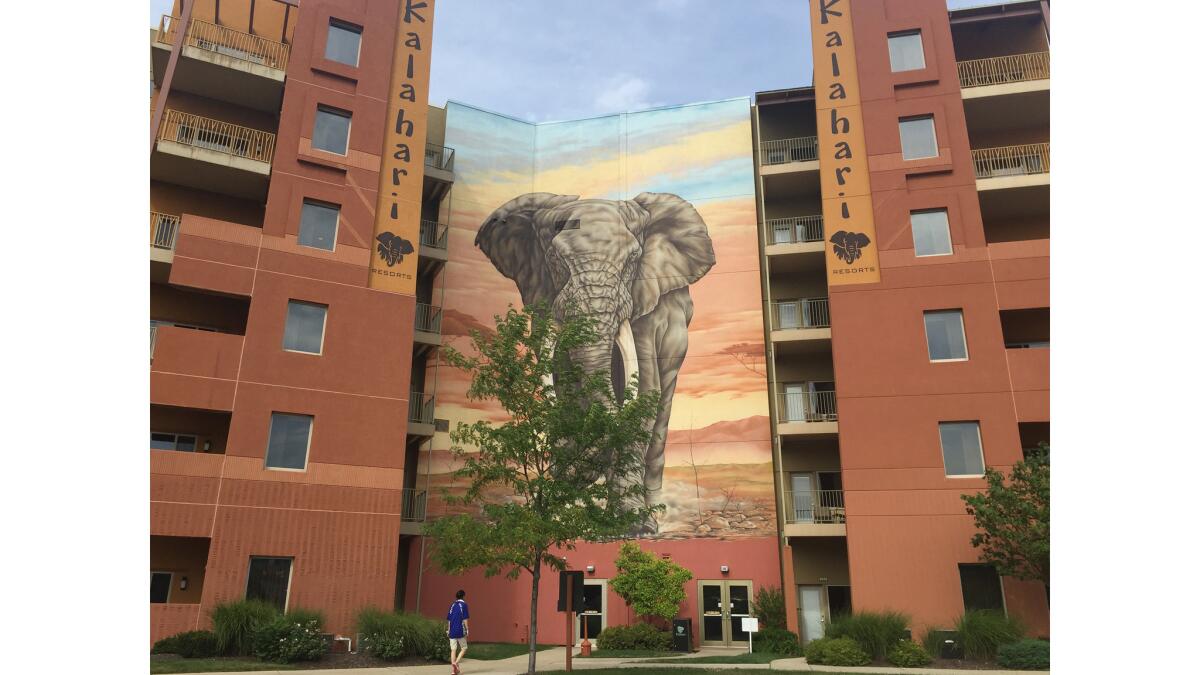
<svg viewBox="0 0 1200 675">
<path fill-rule="evenodd" d="M 156 84 L 162 84 L 180 23 L 178 17 L 162 17 L 151 42 Z M 172 89 L 275 113 L 283 98 L 289 52 L 283 42 L 192 19 Z"/>
</svg>

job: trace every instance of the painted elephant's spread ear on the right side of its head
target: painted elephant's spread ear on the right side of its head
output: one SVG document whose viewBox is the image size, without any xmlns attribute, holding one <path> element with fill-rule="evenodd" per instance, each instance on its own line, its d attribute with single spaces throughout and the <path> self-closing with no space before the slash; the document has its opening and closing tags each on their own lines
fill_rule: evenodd
<svg viewBox="0 0 1200 675">
<path fill-rule="evenodd" d="M 634 203 L 649 214 L 630 229 L 642 240 L 642 259 L 634 279 L 634 313 L 649 313 L 664 294 L 695 283 L 716 263 L 708 226 L 696 208 L 677 195 L 642 192 Z"/>
</svg>

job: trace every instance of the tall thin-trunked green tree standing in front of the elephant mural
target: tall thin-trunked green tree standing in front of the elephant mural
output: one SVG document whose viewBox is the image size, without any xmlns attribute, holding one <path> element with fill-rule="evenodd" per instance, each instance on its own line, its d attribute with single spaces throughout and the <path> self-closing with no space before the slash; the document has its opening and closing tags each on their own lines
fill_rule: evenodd
<svg viewBox="0 0 1200 675">
<path fill-rule="evenodd" d="M 568 312 L 570 316 L 571 312 Z M 624 387 L 618 400 L 607 372 L 584 372 L 569 354 L 596 341 L 593 323 L 558 324 L 545 306 L 509 307 L 496 317 L 496 334 L 472 331 L 478 352 L 446 348 L 450 365 L 470 375 L 467 396 L 496 401 L 503 424 L 460 423 L 450 432 L 462 462 L 454 472 L 464 494 L 445 495 L 468 513 L 426 525 L 433 561 L 461 574 L 482 567 L 487 577 L 528 573 L 529 667 L 536 669 L 538 590 L 542 568 L 563 569 L 562 554 L 575 542 L 610 540 L 643 522 L 643 449 L 659 412 L 658 393 Z"/>
</svg>

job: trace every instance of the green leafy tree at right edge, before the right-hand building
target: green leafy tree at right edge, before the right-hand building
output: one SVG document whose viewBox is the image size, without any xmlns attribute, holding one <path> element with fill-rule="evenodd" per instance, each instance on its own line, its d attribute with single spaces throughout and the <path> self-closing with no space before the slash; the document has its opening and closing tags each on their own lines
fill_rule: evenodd
<svg viewBox="0 0 1200 675">
<path fill-rule="evenodd" d="M 1013 465 L 1004 474 L 989 468 L 988 489 L 962 495 L 967 514 L 979 528 L 971 545 L 980 549 L 980 560 L 1004 577 L 1042 581 L 1050 595 L 1050 446 Z"/>
</svg>

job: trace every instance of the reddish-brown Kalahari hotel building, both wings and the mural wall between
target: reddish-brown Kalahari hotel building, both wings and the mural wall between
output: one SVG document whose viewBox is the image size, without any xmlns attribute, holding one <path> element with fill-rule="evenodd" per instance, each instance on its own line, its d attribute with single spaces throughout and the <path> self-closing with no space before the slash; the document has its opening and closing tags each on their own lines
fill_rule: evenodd
<svg viewBox="0 0 1200 675">
<path fill-rule="evenodd" d="M 745 641 L 769 586 L 805 641 L 883 609 L 1048 635 L 960 496 L 1049 442 L 1049 4 L 809 10 L 811 86 L 532 124 L 428 104 L 433 0 L 176 1 L 150 31 L 151 640 L 245 597 L 353 638 L 460 587 L 473 638 L 527 640 L 528 577 L 446 575 L 422 528 L 462 489 L 446 431 L 503 419 L 439 352 L 534 301 L 586 307 L 587 368 L 662 394 L 634 478 L 666 508 L 632 534 L 692 572 L 697 643 Z M 565 554 L 576 635 L 636 620 L 616 549 Z"/>
</svg>

